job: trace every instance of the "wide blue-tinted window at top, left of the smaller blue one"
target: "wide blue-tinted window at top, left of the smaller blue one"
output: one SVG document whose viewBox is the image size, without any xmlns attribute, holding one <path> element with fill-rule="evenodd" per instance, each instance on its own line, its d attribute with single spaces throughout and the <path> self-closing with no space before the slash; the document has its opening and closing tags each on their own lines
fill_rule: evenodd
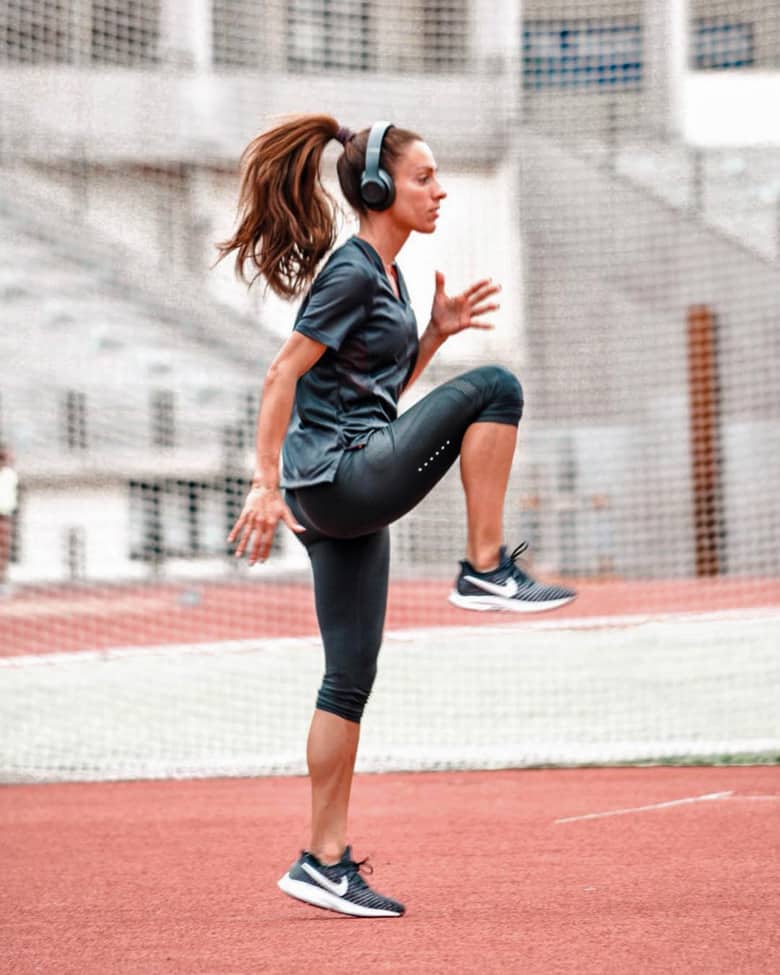
<svg viewBox="0 0 780 975">
<path fill-rule="evenodd" d="M 638 88 L 638 23 L 531 21 L 523 27 L 523 85 L 543 88 Z"/>
</svg>

